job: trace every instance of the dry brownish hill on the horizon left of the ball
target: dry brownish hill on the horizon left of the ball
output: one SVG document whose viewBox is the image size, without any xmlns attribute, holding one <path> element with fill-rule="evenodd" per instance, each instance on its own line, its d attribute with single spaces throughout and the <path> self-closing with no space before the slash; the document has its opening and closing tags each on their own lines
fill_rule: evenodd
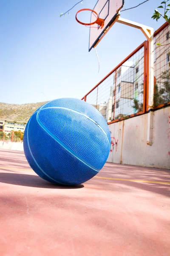
<svg viewBox="0 0 170 256">
<path fill-rule="evenodd" d="M 28 122 L 30 116 L 46 102 L 28 104 L 8 104 L 0 102 L 0 121 Z"/>
</svg>

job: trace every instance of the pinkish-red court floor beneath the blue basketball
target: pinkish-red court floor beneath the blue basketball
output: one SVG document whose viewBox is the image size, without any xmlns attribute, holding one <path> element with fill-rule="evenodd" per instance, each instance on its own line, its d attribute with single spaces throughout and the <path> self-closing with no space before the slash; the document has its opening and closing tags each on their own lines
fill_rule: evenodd
<svg viewBox="0 0 170 256">
<path fill-rule="evenodd" d="M 0 256 L 170 256 L 170 170 L 107 163 L 55 186 L 0 150 Z"/>
</svg>

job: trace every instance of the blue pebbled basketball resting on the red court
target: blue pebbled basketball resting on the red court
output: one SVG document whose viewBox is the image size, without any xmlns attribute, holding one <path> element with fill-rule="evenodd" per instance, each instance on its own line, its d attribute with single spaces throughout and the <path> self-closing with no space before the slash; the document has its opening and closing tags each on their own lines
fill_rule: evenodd
<svg viewBox="0 0 170 256">
<path fill-rule="evenodd" d="M 29 119 L 24 133 L 24 153 L 42 179 L 78 185 L 104 166 L 111 136 L 103 116 L 92 105 L 65 98 L 48 102 Z"/>
</svg>

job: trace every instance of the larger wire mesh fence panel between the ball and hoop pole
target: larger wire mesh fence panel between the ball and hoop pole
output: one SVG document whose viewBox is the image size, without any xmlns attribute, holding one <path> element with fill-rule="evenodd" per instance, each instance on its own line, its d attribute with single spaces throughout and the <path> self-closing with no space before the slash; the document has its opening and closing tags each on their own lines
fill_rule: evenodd
<svg viewBox="0 0 170 256">
<path fill-rule="evenodd" d="M 111 122 L 143 111 L 143 88 L 144 44 L 103 79 L 86 96 L 86 102 Z"/>
</svg>

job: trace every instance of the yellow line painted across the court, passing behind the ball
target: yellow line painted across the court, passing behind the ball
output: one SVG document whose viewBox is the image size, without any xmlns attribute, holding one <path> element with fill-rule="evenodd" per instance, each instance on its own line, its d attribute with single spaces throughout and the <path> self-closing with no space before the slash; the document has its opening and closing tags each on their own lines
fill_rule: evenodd
<svg viewBox="0 0 170 256">
<path fill-rule="evenodd" d="M 22 168 L 13 168 L 13 167 L 0 167 L 0 169 L 34 172 L 32 169 L 22 169 Z M 104 180 L 133 181 L 133 182 L 140 182 L 140 183 L 170 184 L 170 181 L 129 180 L 129 179 L 119 179 L 119 178 L 100 177 L 100 176 L 95 176 L 94 178 L 97 178 L 97 179 L 104 179 Z"/>
</svg>

